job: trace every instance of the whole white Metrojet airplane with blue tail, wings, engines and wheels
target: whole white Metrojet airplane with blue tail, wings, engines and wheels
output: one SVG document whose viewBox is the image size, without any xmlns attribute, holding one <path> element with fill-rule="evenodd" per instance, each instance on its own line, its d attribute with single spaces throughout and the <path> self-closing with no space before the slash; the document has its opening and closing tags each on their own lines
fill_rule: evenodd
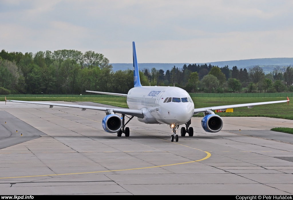
<svg viewBox="0 0 293 200">
<path fill-rule="evenodd" d="M 289 103 L 289 98 L 282 101 L 269 101 L 250 104 L 235 104 L 227 106 L 214 106 L 206 108 L 194 108 L 193 101 L 184 89 L 179 87 L 166 87 L 166 86 L 142 86 L 139 79 L 139 70 L 137 65 L 137 57 L 135 44 L 132 42 L 133 48 L 133 74 L 134 74 L 134 87 L 129 90 L 128 94 L 118 94 L 110 92 L 96 92 L 86 91 L 99 94 L 110 94 L 116 96 L 127 97 L 127 108 L 104 108 L 97 106 L 81 106 L 70 104 L 55 104 L 45 102 L 34 101 L 15 101 L 6 100 L 18 103 L 28 104 L 41 104 L 53 106 L 64 106 L 71 108 L 81 108 L 82 111 L 86 109 L 93 109 L 99 111 L 105 111 L 106 116 L 103 118 L 102 126 L 106 132 L 117 133 L 118 137 L 121 137 L 122 133 L 125 137 L 129 137 L 129 127 L 125 127 L 127 123 L 133 118 L 137 117 L 140 122 L 147 124 L 167 124 L 171 127 L 173 134 L 171 135 L 171 142 L 178 142 L 178 135 L 176 135 L 176 129 L 179 125 L 185 124 L 185 127 L 181 127 L 181 136 L 184 137 L 186 133 L 189 136 L 193 136 L 193 127 L 190 127 L 191 118 L 198 113 L 204 113 L 205 117 L 201 121 L 202 128 L 206 132 L 219 132 L 223 127 L 223 121 L 219 115 L 215 115 L 212 110 L 225 111 L 227 108 L 245 107 L 252 108 L 253 106 L 263 104 L 276 104 L 276 103 Z M 122 117 L 116 113 L 122 114 Z M 125 115 L 131 117 L 125 123 Z"/>
</svg>

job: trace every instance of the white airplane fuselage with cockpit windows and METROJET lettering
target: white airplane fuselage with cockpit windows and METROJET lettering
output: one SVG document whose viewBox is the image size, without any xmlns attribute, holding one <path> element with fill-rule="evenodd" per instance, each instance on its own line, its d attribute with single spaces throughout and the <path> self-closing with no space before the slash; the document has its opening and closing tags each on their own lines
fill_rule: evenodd
<svg viewBox="0 0 293 200">
<path fill-rule="evenodd" d="M 169 86 L 134 87 L 127 94 L 130 109 L 142 110 L 148 124 L 181 125 L 193 116 L 193 101 L 184 89 Z"/>
</svg>

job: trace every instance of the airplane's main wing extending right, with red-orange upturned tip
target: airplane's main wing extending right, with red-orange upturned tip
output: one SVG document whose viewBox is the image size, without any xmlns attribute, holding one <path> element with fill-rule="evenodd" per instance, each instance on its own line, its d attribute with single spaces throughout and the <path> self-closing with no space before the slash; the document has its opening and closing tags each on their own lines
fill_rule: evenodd
<svg viewBox="0 0 293 200">
<path fill-rule="evenodd" d="M 239 107 L 246 107 L 253 108 L 253 106 L 258 105 L 265 105 L 265 104 L 277 104 L 277 103 L 289 103 L 289 98 L 287 100 L 282 101 L 267 101 L 267 102 L 258 102 L 258 103 L 249 103 L 249 104 L 234 104 L 234 105 L 227 105 L 227 106 L 213 106 L 213 107 L 206 107 L 206 108 L 195 108 L 193 114 L 196 115 L 198 113 L 206 112 L 207 110 L 220 110 L 225 111 L 228 108 L 239 108 Z"/>
</svg>

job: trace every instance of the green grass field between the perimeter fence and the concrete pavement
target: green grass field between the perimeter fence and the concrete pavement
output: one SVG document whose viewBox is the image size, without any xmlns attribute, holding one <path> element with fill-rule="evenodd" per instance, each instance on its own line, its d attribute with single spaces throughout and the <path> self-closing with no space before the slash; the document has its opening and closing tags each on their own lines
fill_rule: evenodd
<svg viewBox="0 0 293 200">
<path fill-rule="evenodd" d="M 8 99 L 8 98 L 7 98 Z M 11 100 L 20 101 L 92 101 L 100 104 L 107 104 L 110 106 L 119 106 L 128 108 L 126 97 L 9 97 Z M 193 97 L 195 108 L 209 107 L 209 106 L 223 106 L 231 104 L 246 104 L 262 101 L 280 101 L 286 100 L 284 97 L 274 98 L 249 98 L 249 97 L 229 97 L 229 98 L 214 98 L 214 97 Z M 5 101 L 4 97 L 0 97 L 0 101 Z M 9 103 L 9 102 L 8 102 Z M 253 108 L 234 108 L 233 113 L 217 113 L 221 117 L 272 117 L 293 120 L 293 102 L 289 105 L 287 103 L 269 104 L 254 106 Z M 194 115 L 196 117 L 203 117 L 203 113 Z"/>
</svg>

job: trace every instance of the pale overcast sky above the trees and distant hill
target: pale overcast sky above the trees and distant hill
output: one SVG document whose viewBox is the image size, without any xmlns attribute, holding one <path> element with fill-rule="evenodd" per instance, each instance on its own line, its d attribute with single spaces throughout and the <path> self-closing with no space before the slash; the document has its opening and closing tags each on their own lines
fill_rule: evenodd
<svg viewBox="0 0 293 200">
<path fill-rule="evenodd" d="M 75 49 L 110 63 L 293 57 L 293 1 L 0 0 L 0 50 Z"/>
</svg>

